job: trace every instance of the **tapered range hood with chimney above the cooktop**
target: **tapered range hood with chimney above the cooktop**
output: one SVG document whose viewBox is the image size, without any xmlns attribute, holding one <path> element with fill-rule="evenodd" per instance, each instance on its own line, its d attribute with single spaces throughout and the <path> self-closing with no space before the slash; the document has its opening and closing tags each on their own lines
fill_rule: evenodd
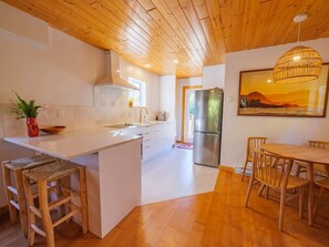
<svg viewBox="0 0 329 247">
<path fill-rule="evenodd" d="M 113 51 L 105 51 L 105 75 L 97 80 L 95 86 L 111 86 L 114 89 L 140 90 L 120 78 L 120 58 Z"/>
</svg>

